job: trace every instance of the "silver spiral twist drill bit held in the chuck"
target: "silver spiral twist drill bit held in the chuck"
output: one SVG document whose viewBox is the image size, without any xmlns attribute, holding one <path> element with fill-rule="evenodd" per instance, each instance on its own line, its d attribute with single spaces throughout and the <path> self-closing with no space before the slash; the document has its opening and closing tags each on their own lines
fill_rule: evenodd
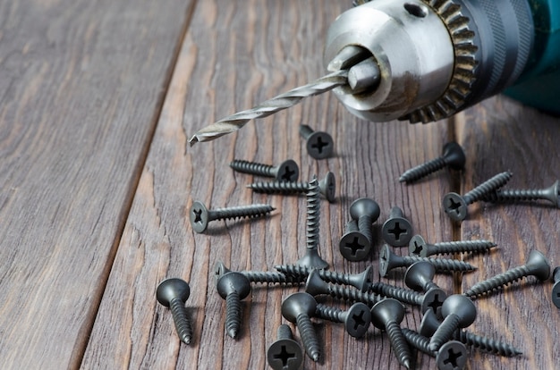
<svg viewBox="0 0 560 370">
<path fill-rule="evenodd" d="M 304 97 L 312 97 L 322 94 L 333 88 L 346 85 L 348 83 L 348 71 L 335 71 L 311 82 L 310 84 L 293 88 L 277 97 L 264 101 L 254 108 L 242 111 L 224 119 L 212 123 L 211 125 L 197 131 L 192 135 L 189 142 L 191 146 L 199 141 L 209 141 L 217 139 L 228 133 L 241 129 L 245 123 L 256 118 L 267 117 L 278 111 L 289 108 L 301 102 Z"/>
</svg>

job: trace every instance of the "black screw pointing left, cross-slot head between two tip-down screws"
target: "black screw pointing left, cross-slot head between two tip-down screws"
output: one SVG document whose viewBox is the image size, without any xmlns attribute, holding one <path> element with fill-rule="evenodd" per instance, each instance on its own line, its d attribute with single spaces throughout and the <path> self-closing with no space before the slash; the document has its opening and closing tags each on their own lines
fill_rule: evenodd
<svg viewBox="0 0 560 370">
<path fill-rule="evenodd" d="M 363 337 L 371 323 L 369 307 L 361 302 L 354 303 L 347 311 L 318 303 L 315 315 L 333 323 L 344 323 L 344 329 L 354 338 Z"/>
</svg>

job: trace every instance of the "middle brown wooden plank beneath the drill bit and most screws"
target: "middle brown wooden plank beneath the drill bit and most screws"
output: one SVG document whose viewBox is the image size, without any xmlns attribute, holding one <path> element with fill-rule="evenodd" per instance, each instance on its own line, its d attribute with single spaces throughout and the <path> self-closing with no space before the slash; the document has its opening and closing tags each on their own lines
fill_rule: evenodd
<svg viewBox="0 0 560 370">
<path fill-rule="evenodd" d="M 259 178 L 232 172 L 227 164 L 235 158 L 264 164 L 293 158 L 304 181 L 313 174 L 335 172 L 338 200 L 321 205 L 320 253 L 337 271 L 358 273 L 372 263 L 374 278 L 379 279 L 377 248 L 368 262 L 358 264 L 345 262 L 338 252 L 355 198 L 375 198 L 382 208 L 377 247 L 380 225 L 391 206 L 402 206 L 429 241 L 451 240 L 452 229 L 434 201 L 451 189 L 450 175 L 440 172 L 414 186 L 397 180 L 405 169 L 440 154 L 450 135 L 446 122 L 426 126 L 361 122 L 327 94 L 250 122 L 237 134 L 188 147 L 187 139 L 195 130 L 324 73 L 321 58 L 327 27 L 348 4 L 323 5 L 298 1 L 197 5 L 83 368 L 267 367 L 267 347 L 276 340 L 276 327 L 285 322 L 281 303 L 297 289 L 254 286 L 243 301 L 240 338 L 232 340 L 225 335 L 225 302 L 216 293 L 212 270 L 217 260 L 233 270 L 267 270 L 299 258 L 305 243 L 305 198 L 251 194 L 244 185 Z M 300 123 L 330 132 L 336 155 L 324 161 L 311 159 L 299 137 Z M 209 207 L 269 203 L 276 211 L 250 222 L 210 223 L 207 233 L 197 234 L 188 221 L 195 200 Z M 402 276 L 403 272 L 393 273 L 384 281 L 402 284 Z M 190 346 L 179 342 L 169 310 L 155 299 L 157 284 L 166 277 L 181 277 L 191 284 L 186 306 L 195 339 Z M 451 277 L 438 279 L 443 287 L 453 287 Z M 418 310 L 411 310 L 406 324 L 420 324 Z M 306 359 L 305 368 L 400 367 L 386 335 L 378 330 L 371 328 L 366 338 L 356 341 L 340 325 L 317 322 L 316 328 L 324 356 L 317 366 Z M 420 357 L 419 364 L 435 366 L 428 357 Z"/>
</svg>

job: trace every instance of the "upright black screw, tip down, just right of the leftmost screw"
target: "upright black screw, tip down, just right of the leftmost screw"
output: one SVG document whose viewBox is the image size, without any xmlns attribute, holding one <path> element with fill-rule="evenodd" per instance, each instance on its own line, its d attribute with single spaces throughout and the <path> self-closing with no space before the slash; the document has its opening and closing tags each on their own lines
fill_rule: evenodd
<svg viewBox="0 0 560 370">
<path fill-rule="evenodd" d="M 250 293 L 249 279 L 242 273 L 224 273 L 218 278 L 216 289 L 220 297 L 225 299 L 225 332 L 235 339 L 242 322 L 241 300 Z"/>
</svg>

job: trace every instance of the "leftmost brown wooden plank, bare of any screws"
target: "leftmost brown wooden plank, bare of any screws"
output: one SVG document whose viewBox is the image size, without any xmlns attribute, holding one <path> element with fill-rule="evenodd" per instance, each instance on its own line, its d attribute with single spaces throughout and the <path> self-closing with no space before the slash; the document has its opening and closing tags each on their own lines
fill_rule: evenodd
<svg viewBox="0 0 560 370">
<path fill-rule="evenodd" d="M 80 364 L 187 4 L 0 4 L 3 368 Z"/>
</svg>

